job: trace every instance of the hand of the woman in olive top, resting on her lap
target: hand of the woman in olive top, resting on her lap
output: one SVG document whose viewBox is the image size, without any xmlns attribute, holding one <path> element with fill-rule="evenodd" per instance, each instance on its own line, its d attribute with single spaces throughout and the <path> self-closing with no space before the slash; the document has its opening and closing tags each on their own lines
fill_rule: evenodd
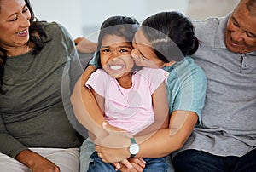
<svg viewBox="0 0 256 172">
<path fill-rule="evenodd" d="M 24 163 L 32 172 L 60 172 L 60 168 L 47 158 L 36 152 L 24 150 L 15 157 L 20 163 Z"/>
</svg>

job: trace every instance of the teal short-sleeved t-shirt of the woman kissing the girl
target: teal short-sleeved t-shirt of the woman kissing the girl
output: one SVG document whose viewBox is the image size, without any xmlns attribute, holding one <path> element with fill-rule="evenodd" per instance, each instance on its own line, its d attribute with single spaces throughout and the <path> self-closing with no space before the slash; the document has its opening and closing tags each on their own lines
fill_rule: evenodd
<svg viewBox="0 0 256 172">
<path fill-rule="evenodd" d="M 96 66 L 96 55 L 90 60 L 89 64 Z M 207 90 L 205 72 L 188 56 L 173 66 L 164 67 L 163 69 L 169 72 L 166 93 L 170 114 L 176 110 L 195 112 L 200 123 L 201 110 L 204 107 Z"/>
</svg>

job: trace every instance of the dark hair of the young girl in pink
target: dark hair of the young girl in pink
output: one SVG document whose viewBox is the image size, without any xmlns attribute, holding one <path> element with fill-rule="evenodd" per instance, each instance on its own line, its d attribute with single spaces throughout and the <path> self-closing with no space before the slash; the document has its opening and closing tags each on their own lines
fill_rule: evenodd
<svg viewBox="0 0 256 172">
<path fill-rule="evenodd" d="M 125 37 L 127 42 L 132 44 L 132 39 L 134 34 L 137 32 L 138 27 L 138 21 L 132 17 L 117 15 L 104 20 L 98 37 L 96 49 L 96 66 L 98 66 L 98 68 L 102 68 L 100 49 L 102 47 L 103 37 L 105 37 L 107 34 Z"/>
</svg>

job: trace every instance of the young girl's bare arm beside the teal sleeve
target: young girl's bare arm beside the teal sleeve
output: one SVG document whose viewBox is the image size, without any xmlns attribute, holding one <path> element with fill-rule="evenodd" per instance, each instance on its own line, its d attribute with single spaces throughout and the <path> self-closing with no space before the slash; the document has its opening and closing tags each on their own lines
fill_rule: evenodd
<svg viewBox="0 0 256 172">
<path fill-rule="evenodd" d="M 169 107 L 166 96 L 166 83 L 160 83 L 160 86 L 155 89 L 152 94 L 152 103 L 154 107 L 154 123 L 148 126 L 143 131 L 137 133 L 136 136 L 154 133 L 158 129 L 168 128 L 169 124 Z"/>
</svg>

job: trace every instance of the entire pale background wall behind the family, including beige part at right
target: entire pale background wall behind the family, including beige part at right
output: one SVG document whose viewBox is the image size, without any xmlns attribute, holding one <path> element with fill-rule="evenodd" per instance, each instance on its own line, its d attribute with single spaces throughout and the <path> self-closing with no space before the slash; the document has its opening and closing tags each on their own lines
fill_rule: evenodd
<svg viewBox="0 0 256 172">
<path fill-rule="evenodd" d="M 177 10 L 192 19 L 221 16 L 239 0 L 31 0 L 38 20 L 58 21 L 73 37 L 95 41 L 103 20 L 112 15 L 127 15 L 142 22 L 160 11 Z M 90 38 L 91 37 L 91 38 Z"/>
</svg>

